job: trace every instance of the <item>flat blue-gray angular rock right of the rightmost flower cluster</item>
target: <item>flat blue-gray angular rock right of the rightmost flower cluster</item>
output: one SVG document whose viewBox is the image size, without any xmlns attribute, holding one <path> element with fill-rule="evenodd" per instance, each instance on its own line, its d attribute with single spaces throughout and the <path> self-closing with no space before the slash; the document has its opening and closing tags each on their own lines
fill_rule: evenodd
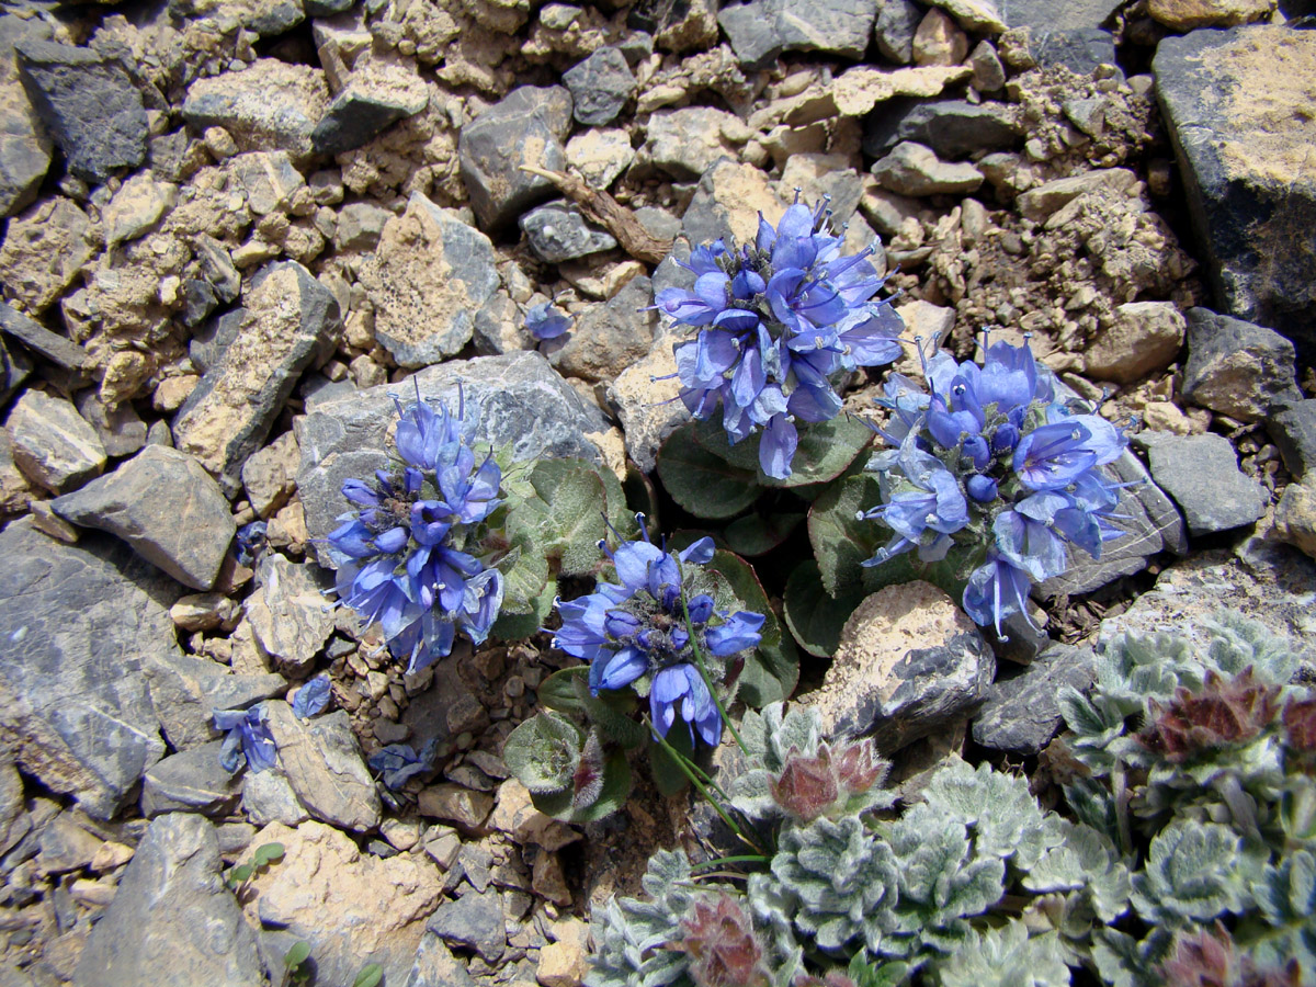
<svg viewBox="0 0 1316 987">
<path fill-rule="evenodd" d="M 1190 534 L 1227 532 L 1252 524 L 1266 511 L 1266 488 L 1238 470 L 1224 436 L 1171 436 L 1144 432 L 1152 476 L 1183 511 Z"/>
</svg>

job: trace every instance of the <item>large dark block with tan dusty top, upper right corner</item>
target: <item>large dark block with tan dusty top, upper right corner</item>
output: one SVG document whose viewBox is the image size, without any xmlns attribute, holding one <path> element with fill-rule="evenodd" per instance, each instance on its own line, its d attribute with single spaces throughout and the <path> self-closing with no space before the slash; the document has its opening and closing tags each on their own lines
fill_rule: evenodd
<svg viewBox="0 0 1316 987">
<path fill-rule="evenodd" d="M 1167 37 L 1152 63 L 1188 213 L 1221 312 L 1316 354 L 1316 34 L 1286 26 Z"/>
</svg>

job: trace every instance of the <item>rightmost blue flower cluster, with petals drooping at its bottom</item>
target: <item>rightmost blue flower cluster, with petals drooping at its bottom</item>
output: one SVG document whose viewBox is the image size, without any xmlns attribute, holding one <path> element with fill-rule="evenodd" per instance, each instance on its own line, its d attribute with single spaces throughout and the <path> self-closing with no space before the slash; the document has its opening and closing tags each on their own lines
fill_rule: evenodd
<svg viewBox="0 0 1316 987">
<path fill-rule="evenodd" d="M 954 546 L 986 546 L 963 605 L 1001 633 L 1009 615 L 1026 619 L 1032 583 L 1065 572 L 1069 546 L 1098 558 L 1123 533 L 1111 521 L 1124 484 L 1100 467 L 1128 440 L 1099 415 L 1057 401 L 1050 371 L 1026 345 L 994 343 L 982 367 L 941 351 L 924 375 L 930 393 L 892 375 L 879 401 L 890 411 L 882 434 L 895 449 L 870 463 L 886 503 L 859 517 L 895 534 L 863 565 L 912 549 L 937 562 Z"/>
</svg>

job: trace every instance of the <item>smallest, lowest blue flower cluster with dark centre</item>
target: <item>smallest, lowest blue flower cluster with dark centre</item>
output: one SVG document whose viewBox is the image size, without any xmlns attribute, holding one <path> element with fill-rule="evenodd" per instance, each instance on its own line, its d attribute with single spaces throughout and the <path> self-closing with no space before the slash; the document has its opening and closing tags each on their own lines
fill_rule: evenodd
<svg viewBox="0 0 1316 987">
<path fill-rule="evenodd" d="M 697 591 L 701 580 L 694 567 L 713 558 L 712 538 L 672 555 L 649 541 L 644 515 L 637 517 L 645 540 L 622 542 L 611 553 L 620 584 L 600 582 L 588 596 L 559 601 L 562 628 L 553 646 L 590 662 L 595 695 L 626 686 L 641 695 L 647 691 L 654 729 L 662 737 L 679 713 L 705 744 L 716 746 L 721 716 L 695 647 L 705 657 L 729 659 L 758 645 L 765 617 L 746 611 L 728 616 L 715 609 L 712 596 Z"/>
</svg>

